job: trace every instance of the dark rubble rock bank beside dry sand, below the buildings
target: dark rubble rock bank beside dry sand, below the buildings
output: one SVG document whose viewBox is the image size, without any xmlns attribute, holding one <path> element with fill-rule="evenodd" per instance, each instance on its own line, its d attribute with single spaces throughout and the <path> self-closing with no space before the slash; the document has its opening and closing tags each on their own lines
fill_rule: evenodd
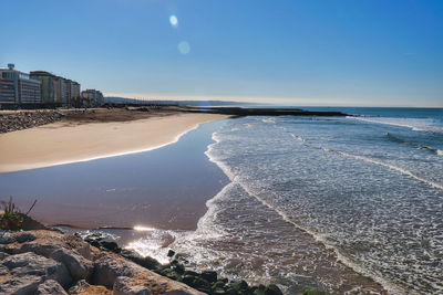
<svg viewBox="0 0 443 295">
<path fill-rule="evenodd" d="M 0 134 L 54 123 L 63 117 L 64 114 L 58 110 L 0 113 Z"/>
</svg>

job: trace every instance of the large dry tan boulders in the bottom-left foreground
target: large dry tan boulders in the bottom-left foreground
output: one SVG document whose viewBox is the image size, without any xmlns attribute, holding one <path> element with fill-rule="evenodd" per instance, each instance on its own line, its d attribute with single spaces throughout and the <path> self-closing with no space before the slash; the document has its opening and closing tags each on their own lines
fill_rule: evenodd
<svg viewBox="0 0 443 295">
<path fill-rule="evenodd" d="M 204 294 L 56 231 L 0 231 L 0 294 Z"/>
</svg>

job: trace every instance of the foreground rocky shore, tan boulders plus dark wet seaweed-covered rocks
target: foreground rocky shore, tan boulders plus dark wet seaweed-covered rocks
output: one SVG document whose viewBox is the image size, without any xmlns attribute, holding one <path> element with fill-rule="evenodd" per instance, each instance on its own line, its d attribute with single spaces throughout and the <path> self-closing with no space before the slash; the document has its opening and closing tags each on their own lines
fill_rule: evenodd
<svg viewBox="0 0 443 295">
<path fill-rule="evenodd" d="M 171 263 L 159 264 L 100 234 L 83 240 L 53 230 L 0 231 L 0 294 L 282 294 L 276 285 L 196 273 L 178 254 L 168 256 Z"/>
</svg>

